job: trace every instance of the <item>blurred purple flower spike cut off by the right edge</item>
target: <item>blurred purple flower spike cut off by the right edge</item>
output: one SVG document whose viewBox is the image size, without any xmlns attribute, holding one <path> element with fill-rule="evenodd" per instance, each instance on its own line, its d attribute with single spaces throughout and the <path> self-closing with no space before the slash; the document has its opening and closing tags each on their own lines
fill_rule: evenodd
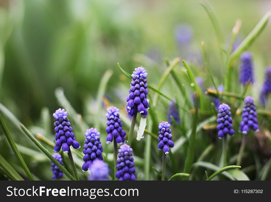
<svg viewBox="0 0 271 202">
<path fill-rule="evenodd" d="M 261 105 L 265 106 L 270 92 L 271 92 L 271 66 L 265 68 L 265 80 L 260 94 Z"/>
</svg>

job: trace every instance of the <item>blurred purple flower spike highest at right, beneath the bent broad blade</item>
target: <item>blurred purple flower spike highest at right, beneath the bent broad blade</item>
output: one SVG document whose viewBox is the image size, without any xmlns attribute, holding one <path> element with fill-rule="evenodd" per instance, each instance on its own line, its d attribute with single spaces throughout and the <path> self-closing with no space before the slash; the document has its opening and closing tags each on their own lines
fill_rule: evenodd
<svg viewBox="0 0 271 202">
<path fill-rule="evenodd" d="M 251 83 L 254 82 L 253 77 L 253 62 L 252 62 L 252 55 L 250 52 L 244 52 L 241 54 L 241 63 L 240 63 L 240 74 L 239 74 L 239 81 L 241 84 L 246 85 L 251 78 Z"/>
</svg>

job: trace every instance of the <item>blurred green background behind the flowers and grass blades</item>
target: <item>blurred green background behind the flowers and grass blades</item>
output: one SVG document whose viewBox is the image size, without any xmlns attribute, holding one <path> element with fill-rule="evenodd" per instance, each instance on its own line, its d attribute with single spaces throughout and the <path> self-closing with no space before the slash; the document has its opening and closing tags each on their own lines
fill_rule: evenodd
<svg viewBox="0 0 271 202">
<path fill-rule="evenodd" d="M 217 84 L 222 83 L 224 63 L 220 58 L 210 19 L 199 2 L 201 1 L 1 0 L 1 103 L 24 125 L 40 127 L 36 130 L 38 131 L 43 128 L 42 120 L 47 115 L 50 120 L 48 124 L 53 125 L 52 113 L 60 107 L 55 89 L 61 87 L 87 125 L 101 127 L 101 133 L 105 137 L 106 110 L 100 109 L 99 114 L 96 114 L 95 107 L 99 84 L 105 72 L 111 69 L 113 73 L 105 96 L 123 111 L 130 79 L 123 75 L 117 62 L 129 73 L 135 67 L 144 66 L 149 73 L 148 83 L 157 86 L 166 69 L 164 60 L 180 57 L 191 62 L 195 75 L 203 77 L 205 86 L 209 87 L 211 82 L 202 59 L 201 41 L 205 42 L 215 81 Z M 212 0 L 210 3 L 220 22 L 225 48 L 237 19 L 242 21 L 238 36 L 242 40 L 271 6 L 268 0 Z M 186 46 L 180 46 L 176 42 L 175 28 L 178 24 L 188 24 L 192 28 L 192 40 Z M 261 88 L 264 67 L 271 64 L 270 31 L 269 23 L 249 48 L 255 64 L 256 82 L 251 89 L 254 97 L 258 97 Z M 238 62 L 236 66 L 238 72 Z M 181 65 L 176 72 L 182 75 Z M 234 79 L 233 82 L 237 84 L 237 74 Z M 180 93 L 176 92 L 176 84 L 170 79 L 161 91 L 169 97 L 179 97 L 183 104 Z M 241 89 L 234 87 L 232 91 L 240 93 Z M 162 98 L 160 100 L 158 117 L 164 121 L 167 120 L 168 102 Z M 121 116 L 128 118 L 125 113 Z M 25 136 L 22 138 L 19 129 L 13 129 L 8 120 L 6 122 L 20 144 L 27 145 L 28 139 Z M 48 133 L 51 133 L 50 138 L 53 140 L 51 125 Z M 125 126 L 126 131 L 128 127 Z M 190 127 L 190 120 L 186 127 Z M 9 145 L 6 144 L 2 131 L 0 137 L 1 154 L 11 162 L 16 162 L 16 158 L 10 156 L 11 150 L 7 149 Z M 18 141 L 15 139 L 15 142 Z M 199 152 L 202 149 L 198 148 Z M 140 146 L 136 151 L 139 150 Z M 142 157 L 139 152 L 136 155 Z M 33 163 L 31 169 L 35 166 L 37 165 Z M 49 167 L 47 172 L 49 173 Z M 35 174 L 39 175 L 37 171 Z M 50 178 L 50 174 L 40 174 L 40 179 Z"/>
</svg>

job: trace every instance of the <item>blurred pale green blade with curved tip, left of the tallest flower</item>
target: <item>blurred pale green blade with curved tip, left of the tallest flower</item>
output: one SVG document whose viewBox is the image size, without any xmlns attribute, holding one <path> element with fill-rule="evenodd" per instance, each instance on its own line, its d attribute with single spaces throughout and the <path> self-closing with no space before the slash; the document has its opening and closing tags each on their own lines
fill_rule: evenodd
<svg viewBox="0 0 271 202">
<path fill-rule="evenodd" d="M 97 115 L 100 114 L 100 109 L 102 107 L 102 104 L 103 104 L 103 96 L 104 96 L 104 92 L 105 92 L 105 89 L 106 89 L 106 86 L 107 86 L 107 83 L 110 79 L 110 77 L 112 76 L 113 74 L 113 71 L 111 69 L 108 69 L 101 81 L 100 81 L 100 84 L 99 84 L 99 88 L 98 88 L 98 93 L 97 93 L 97 100 L 96 100 L 96 113 Z M 95 119 L 95 127 L 98 129 L 99 131 L 99 126 L 100 125 L 100 121 L 98 118 Z"/>
</svg>

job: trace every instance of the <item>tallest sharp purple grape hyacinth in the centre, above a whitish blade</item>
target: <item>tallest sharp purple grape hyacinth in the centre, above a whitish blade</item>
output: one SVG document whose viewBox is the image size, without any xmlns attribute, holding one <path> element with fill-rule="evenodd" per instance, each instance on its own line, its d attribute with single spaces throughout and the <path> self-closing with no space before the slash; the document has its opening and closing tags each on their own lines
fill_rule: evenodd
<svg viewBox="0 0 271 202">
<path fill-rule="evenodd" d="M 139 112 L 143 117 L 148 116 L 147 109 L 149 103 L 147 101 L 148 84 L 147 77 L 148 73 L 144 67 L 138 67 L 132 73 L 131 87 L 129 89 L 129 96 L 127 97 L 127 112 L 130 117 L 133 117 Z"/>
</svg>

